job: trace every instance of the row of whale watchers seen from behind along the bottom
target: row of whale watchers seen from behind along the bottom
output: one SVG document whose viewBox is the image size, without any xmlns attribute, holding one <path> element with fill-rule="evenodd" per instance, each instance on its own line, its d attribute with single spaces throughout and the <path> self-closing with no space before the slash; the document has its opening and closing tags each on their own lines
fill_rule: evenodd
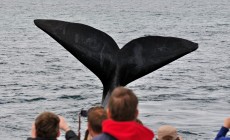
<svg viewBox="0 0 230 140">
<path fill-rule="evenodd" d="M 153 140 L 152 130 L 143 125 L 138 117 L 138 99 L 132 90 L 117 87 L 113 90 L 108 105 L 88 110 L 88 129 L 84 140 Z M 230 118 L 224 121 L 215 140 L 230 140 L 225 137 L 230 128 Z M 41 113 L 32 125 L 31 137 L 27 140 L 56 140 L 60 130 L 66 140 L 80 140 L 62 116 L 52 112 Z M 182 140 L 175 127 L 163 125 L 157 131 L 157 140 Z"/>
</svg>

